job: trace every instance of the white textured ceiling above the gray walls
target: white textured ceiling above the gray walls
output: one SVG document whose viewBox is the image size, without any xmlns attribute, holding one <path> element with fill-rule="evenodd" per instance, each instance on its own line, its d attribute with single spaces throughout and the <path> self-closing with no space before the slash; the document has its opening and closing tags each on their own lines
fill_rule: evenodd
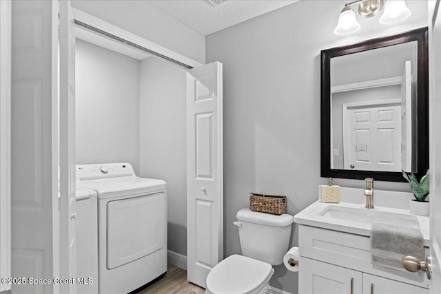
<svg viewBox="0 0 441 294">
<path fill-rule="evenodd" d="M 149 3 L 207 36 L 298 1 L 228 0 L 218 6 L 208 0 L 150 0 Z"/>
</svg>

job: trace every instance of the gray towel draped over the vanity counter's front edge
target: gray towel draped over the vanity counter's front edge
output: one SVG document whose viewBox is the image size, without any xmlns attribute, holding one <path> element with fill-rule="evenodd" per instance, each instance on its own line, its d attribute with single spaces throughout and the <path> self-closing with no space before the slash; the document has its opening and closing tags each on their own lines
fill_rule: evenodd
<svg viewBox="0 0 441 294">
<path fill-rule="evenodd" d="M 391 224 L 372 224 L 371 262 L 406 271 L 402 258 L 411 255 L 424 260 L 424 238 L 419 229 Z"/>
</svg>

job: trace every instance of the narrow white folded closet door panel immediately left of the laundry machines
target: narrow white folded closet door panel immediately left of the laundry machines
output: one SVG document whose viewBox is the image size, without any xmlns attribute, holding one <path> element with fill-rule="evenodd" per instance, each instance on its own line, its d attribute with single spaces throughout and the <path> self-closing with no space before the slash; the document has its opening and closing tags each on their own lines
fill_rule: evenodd
<svg viewBox="0 0 441 294">
<path fill-rule="evenodd" d="M 75 35 L 70 0 L 60 10 L 60 274 L 76 277 L 75 198 Z M 61 293 L 76 293 L 76 284 L 61 284 Z"/>
</svg>

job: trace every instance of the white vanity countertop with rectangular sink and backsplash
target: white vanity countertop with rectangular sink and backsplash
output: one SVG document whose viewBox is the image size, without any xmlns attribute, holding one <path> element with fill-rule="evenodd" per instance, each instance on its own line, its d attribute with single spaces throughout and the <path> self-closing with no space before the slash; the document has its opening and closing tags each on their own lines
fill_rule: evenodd
<svg viewBox="0 0 441 294">
<path fill-rule="evenodd" d="M 420 229 L 429 246 L 429 218 L 409 212 L 412 193 L 376 190 L 375 208 L 365 208 L 364 189 L 340 187 L 340 203 L 318 200 L 294 216 L 296 224 L 357 235 L 371 235 L 374 223 Z M 407 205 L 407 206 L 406 206 Z"/>
</svg>

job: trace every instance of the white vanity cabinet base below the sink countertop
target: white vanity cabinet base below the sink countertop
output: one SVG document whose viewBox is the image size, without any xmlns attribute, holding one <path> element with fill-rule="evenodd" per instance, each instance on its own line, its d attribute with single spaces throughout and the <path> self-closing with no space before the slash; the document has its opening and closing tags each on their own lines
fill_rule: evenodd
<svg viewBox="0 0 441 294">
<path fill-rule="evenodd" d="M 369 236 L 299 226 L 299 294 L 428 294 L 424 273 L 371 264 Z"/>
</svg>

